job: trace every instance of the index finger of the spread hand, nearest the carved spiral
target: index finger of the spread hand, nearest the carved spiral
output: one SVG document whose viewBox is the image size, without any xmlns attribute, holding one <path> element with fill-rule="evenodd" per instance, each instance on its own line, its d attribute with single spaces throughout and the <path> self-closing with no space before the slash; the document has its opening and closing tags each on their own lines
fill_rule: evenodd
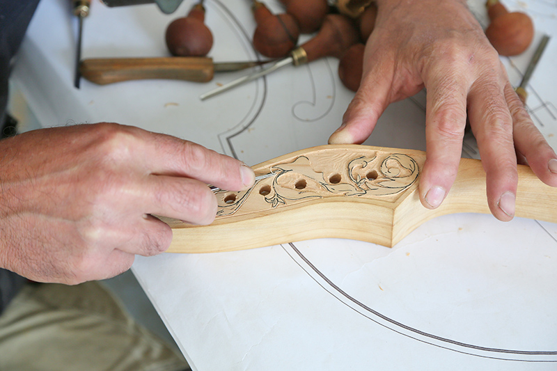
<svg viewBox="0 0 557 371">
<path fill-rule="evenodd" d="M 456 75 L 432 74 L 430 80 L 425 111 L 427 156 L 419 191 L 422 204 L 435 209 L 455 182 L 460 164 L 467 87 L 464 78 Z"/>
</svg>

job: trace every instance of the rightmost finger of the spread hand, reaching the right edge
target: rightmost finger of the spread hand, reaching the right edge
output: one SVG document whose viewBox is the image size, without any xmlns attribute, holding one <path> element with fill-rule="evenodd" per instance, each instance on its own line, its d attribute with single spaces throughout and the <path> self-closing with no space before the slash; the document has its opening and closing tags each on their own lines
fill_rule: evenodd
<svg viewBox="0 0 557 371">
<path fill-rule="evenodd" d="M 517 156 L 524 158 L 526 165 L 545 184 L 557 187 L 557 155 L 547 143 L 540 130 L 535 127 L 510 84 L 505 86 L 505 100 L 514 123 L 514 138 Z"/>
</svg>

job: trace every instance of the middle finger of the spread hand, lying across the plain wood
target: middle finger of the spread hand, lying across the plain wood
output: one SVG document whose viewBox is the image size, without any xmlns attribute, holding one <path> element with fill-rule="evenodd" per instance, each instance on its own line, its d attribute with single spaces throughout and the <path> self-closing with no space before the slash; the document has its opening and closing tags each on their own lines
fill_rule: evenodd
<svg viewBox="0 0 557 371">
<path fill-rule="evenodd" d="M 469 118 L 486 173 L 489 210 L 497 219 L 510 221 L 515 216 L 518 175 L 505 84 L 477 81 L 469 95 Z"/>
</svg>

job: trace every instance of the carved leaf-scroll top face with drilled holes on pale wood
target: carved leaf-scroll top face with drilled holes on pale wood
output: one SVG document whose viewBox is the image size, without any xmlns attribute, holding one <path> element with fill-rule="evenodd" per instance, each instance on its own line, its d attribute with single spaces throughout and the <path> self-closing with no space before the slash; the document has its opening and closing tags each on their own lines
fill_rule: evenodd
<svg viewBox="0 0 557 371">
<path fill-rule="evenodd" d="M 350 153 L 345 151 L 320 152 L 317 155 L 308 153 L 288 163 L 271 166 L 269 170 L 276 175 L 272 179 L 268 196 L 260 200 L 265 200 L 265 204 L 272 208 L 330 196 L 394 195 L 407 189 L 419 175 L 416 161 L 408 155 L 382 156 L 377 152 L 352 159 Z M 338 182 L 331 181 L 331 175 Z M 255 187 L 237 192 L 234 203 L 226 204 L 219 200 L 217 215 L 232 215 L 248 198 L 258 198 L 257 192 L 251 192 Z M 260 207 L 250 207 L 248 210 L 262 211 Z"/>
</svg>

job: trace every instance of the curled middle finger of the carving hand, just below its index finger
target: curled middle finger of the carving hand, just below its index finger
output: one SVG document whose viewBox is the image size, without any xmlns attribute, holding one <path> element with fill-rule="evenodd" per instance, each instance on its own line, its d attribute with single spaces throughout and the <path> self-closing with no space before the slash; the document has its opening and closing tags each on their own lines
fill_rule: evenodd
<svg viewBox="0 0 557 371">
<path fill-rule="evenodd" d="M 217 214 L 217 198 L 207 184 L 187 177 L 150 175 L 143 191 L 146 214 L 207 225 Z"/>
</svg>

